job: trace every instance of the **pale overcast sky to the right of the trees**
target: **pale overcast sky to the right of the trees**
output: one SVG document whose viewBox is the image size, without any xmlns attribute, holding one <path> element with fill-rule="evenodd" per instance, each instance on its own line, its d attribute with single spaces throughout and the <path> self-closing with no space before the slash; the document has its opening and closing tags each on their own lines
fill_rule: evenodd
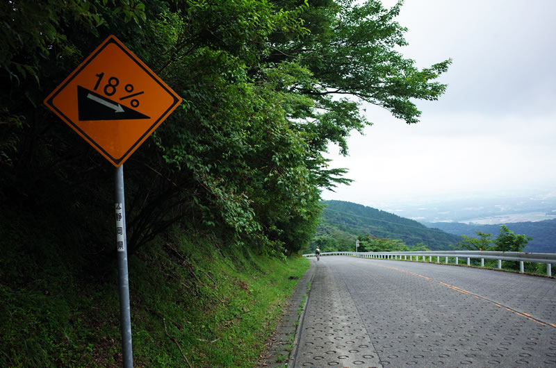
<svg viewBox="0 0 556 368">
<path fill-rule="evenodd" d="M 395 1 L 384 0 L 385 6 Z M 468 194 L 556 193 L 556 1 L 406 0 L 400 49 L 417 67 L 453 59 L 439 101 L 408 126 L 376 106 L 350 156 L 350 186 L 323 199 L 384 208 Z"/>
</svg>

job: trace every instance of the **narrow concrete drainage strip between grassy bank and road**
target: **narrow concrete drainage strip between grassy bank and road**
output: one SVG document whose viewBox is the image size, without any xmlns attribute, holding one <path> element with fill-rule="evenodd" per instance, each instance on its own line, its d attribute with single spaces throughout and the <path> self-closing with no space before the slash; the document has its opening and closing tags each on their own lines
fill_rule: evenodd
<svg viewBox="0 0 556 368">
<path fill-rule="evenodd" d="M 288 300 L 288 306 L 284 310 L 278 323 L 275 334 L 272 336 L 269 346 L 261 357 L 259 367 L 294 367 L 297 346 L 299 345 L 301 327 L 316 264 L 311 262 L 311 267 L 297 284 L 295 290 Z"/>
</svg>

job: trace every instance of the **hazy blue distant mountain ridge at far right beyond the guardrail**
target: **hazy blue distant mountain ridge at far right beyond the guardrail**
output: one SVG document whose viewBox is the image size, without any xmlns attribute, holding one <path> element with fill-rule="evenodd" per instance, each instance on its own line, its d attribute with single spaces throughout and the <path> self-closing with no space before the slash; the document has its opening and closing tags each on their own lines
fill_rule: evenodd
<svg viewBox="0 0 556 368">
<path fill-rule="evenodd" d="M 477 237 L 477 231 L 491 233 L 493 237 L 498 236 L 500 232 L 500 224 L 478 225 L 461 224 L 459 222 L 423 222 L 423 224 L 429 227 L 434 226 L 447 233 L 472 237 Z M 524 234 L 533 238 L 533 240 L 525 246 L 525 251 L 556 253 L 556 219 L 534 222 L 514 222 L 505 225 L 515 234 Z"/>
</svg>

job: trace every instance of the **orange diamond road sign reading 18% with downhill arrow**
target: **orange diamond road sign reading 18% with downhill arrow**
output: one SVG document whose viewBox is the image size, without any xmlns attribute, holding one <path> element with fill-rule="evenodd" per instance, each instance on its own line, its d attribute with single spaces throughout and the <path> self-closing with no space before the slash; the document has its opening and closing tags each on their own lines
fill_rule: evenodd
<svg viewBox="0 0 556 368">
<path fill-rule="evenodd" d="M 119 167 L 181 98 L 111 35 L 44 104 Z"/>
</svg>

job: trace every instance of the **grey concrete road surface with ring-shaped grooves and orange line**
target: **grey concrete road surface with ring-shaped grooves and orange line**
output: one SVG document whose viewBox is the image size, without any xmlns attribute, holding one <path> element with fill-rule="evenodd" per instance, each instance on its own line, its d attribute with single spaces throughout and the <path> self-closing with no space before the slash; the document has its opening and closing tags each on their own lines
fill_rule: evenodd
<svg viewBox="0 0 556 368">
<path fill-rule="evenodd" d="M 553 278 L 346 256 L 316 264 L 295 367 L 556 366 Z"/>
</svg>

